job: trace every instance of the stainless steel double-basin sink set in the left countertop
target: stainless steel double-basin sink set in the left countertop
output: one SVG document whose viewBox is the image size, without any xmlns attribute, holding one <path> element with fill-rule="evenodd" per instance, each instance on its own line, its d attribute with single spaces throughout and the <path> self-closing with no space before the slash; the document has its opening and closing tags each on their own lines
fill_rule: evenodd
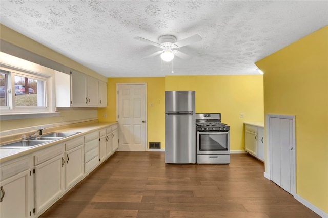
<svg viewBox="0 0 328 218">
<path fill-rule="evenodd" d="M 78 133 L 80 132 L 53 132 L 27 140 L 20 140 L 9 144 L 4 144 L 0 146 L 0 148 L 32 148 L 55 140 L 73 136 Z"/>
</svg>

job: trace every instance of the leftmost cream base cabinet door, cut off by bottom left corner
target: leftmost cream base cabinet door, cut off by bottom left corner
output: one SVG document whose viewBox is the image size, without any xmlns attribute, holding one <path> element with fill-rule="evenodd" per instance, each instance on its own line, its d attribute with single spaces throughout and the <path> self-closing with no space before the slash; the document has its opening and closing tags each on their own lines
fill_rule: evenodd
<svg viewBox="0 0 328 218">
<path fill-rule="evenodd" d="M 0 217 L 30 217 L 30 206 L 32 193 L 29 193 L 29 184 L 32 182 L 30 170 L 25 170 L 2 182 Z"/>
</svg>

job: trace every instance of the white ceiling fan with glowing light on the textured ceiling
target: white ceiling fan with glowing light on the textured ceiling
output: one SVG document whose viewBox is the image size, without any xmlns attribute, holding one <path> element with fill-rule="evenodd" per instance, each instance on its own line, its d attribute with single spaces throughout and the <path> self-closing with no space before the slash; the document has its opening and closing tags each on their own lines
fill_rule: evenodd
<svg viewBox="0 0 328 218">
<path fill-rule="evenodd" d="M 162 49 L 161 51 L 155 52 L 144 58 L 154 57 L 154 56 L 160 54 L 161 59 L 166 62 L 173 60 L 174 56 L 177 56 L 182 59 L 189 59 L 190 58 L 189 55 L 187 55 L 183 52 L 180 52 L 177 49 L 179 49 L 183 46 L 188 46 L 191 43 L 202 40 L 200 35 L 197 35 L 197 34 L 190 36 L 188 38 L 182 39 L 180 41 L 176 41 L 176 37 L 173 35 L 163 35 L 158 38 L 158 43 L 154 42 L 154 41 L 150 41 L 145 38 L 141 38 L 141 37 L 134 37 L 134 39 L 137 39 L 142 42 L 146 42 L 152 46 L 156 46 L 156 47 Z"/>
</svg>

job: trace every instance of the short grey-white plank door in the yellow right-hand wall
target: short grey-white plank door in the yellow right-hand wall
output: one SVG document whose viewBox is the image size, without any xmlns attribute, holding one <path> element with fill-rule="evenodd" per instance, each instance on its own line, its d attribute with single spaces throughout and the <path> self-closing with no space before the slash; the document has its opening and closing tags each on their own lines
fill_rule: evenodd
<svg viewBox="0 0 328 218">
<path fill-rule="evenodd" d="M 295 194 L 293 126 L 293 119 L 269 119 L 270 177 L 292 195 Z"/>
</svg>

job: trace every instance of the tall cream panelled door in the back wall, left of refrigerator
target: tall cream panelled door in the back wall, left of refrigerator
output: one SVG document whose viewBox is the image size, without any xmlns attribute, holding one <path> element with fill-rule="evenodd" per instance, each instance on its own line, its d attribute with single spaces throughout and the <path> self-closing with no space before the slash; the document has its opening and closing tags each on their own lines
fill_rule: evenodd
<svg viewBox="0 0 328 218">
<path fill-rule="evenodd" d="M 119 151 L 146 151 L 146 84 L 117 84 Z"/>
</svg>

